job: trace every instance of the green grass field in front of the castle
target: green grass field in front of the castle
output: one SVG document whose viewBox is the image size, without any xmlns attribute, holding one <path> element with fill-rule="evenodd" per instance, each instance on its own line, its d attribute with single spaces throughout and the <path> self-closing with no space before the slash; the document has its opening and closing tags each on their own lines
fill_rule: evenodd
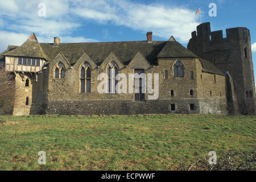
<svg viewBox="0 0 256 182">
<path fill-rule="evenodd" d="M 209 151 L 251 150 L 243 115 L 0 116 L 0 170 L 171 170 Z M 38 152 L 46 152 L 46 165 Z M 208 156 L 207 156 L 208 157 Z"/>
</svg>

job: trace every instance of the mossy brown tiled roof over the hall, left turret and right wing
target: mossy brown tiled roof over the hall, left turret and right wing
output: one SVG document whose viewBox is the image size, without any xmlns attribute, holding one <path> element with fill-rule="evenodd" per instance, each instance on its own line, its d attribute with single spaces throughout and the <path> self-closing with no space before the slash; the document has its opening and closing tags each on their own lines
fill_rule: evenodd
<svg viewBox="0 0 256 182">
<path fill-rule="evenodd" d="M 140 52 L 141 55 L 151 65 L 157 64 L 158 57 L 193 57 L 199 58 L 194 53 L 183 47 L 175 39 L 172 41 L 131 41 L 131 42 L 101 42 L 101 43 L 60 43 L 59 46 L 53 46 L 51 43 L 39 43 L 35 34 L 32 34 L 22 46 L 9 46 L 5 52 L 0 54 L 0 60 L 3 55 L 22 56 L 22 57 L 39 57 L 47 61 L 53 60 L 58 53 L 68 59 L 71 65 L 86 52 L 87 55 L 100 65 L 111 52 L 117 56 L 123 64 L 127 65 Z M 210 61 L 200 59 L 203 71 L 224 75 L 224 73 L 210 63 Z"/>
</svg>

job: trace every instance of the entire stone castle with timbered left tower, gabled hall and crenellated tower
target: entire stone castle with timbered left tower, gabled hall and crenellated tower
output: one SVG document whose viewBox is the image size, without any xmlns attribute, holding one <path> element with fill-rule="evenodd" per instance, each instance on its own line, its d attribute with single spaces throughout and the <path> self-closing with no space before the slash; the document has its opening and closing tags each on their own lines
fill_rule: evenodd
<svg viewBox="0 0 256 182">
<path fill-rule="evenodd" d="M 224 38 L 200 24 L 188 48 L 172 36 L 152 41 L 152 32 L 147 41 L 105 43 L 39 43 L 32 34 L 8 46 L 0 64 L 15 75 L 14 115 L 255 112 L 250 31 L 242 27 Z M 100 73 L 109 76 L 108 93 L 97 90 Z M 158 98 L 142 89 L 115 93 L 117 73 L 158 73 Z"/>
</svg>

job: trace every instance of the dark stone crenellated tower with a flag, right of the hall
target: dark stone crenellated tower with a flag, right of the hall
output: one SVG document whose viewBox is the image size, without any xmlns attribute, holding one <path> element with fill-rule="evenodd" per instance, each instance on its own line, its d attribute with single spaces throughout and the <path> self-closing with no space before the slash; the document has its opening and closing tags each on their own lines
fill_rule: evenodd
<svg viewBox="0 0 256 182">
<path fill-rule="evenodd" d="M 211 31 L 210 23 L 197 26 L 188 49 L 211 61 L 230 76 L 233 85 L 234 113 L 255 114 L 255 81 L 250 31 L 245 27 Z"/>
</svg>

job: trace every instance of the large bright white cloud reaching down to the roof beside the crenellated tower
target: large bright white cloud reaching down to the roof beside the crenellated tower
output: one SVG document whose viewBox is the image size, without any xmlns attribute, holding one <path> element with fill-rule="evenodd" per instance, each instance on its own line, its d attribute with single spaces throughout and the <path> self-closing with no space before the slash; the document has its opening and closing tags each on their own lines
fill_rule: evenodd
<svg viewBox="0 0 256 182">
<path fill-rule="evenodd" d="M 160 38 L 174 35 L 181 42 L 188 42 L 195 30 L 197 16 L 189 9 L 164 7 L 158 4 L 142 5 L 127 1 L 76 2 L 72 13 L 99 23 L 112 22 L 134 30 L 153 31 Z"/>
</svg>

